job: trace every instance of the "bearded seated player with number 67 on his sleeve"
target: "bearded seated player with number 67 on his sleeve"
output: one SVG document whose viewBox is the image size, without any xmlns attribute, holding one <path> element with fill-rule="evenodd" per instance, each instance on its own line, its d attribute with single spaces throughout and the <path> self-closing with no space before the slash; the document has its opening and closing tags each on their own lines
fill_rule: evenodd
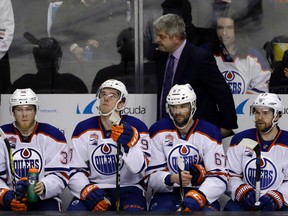
<svg viewBox="0 0 288 216">
<path fill-rule="evenodd" d="M 148 186 L 153 190 L 149 210 L 220 210 L 218 198 L 226 190 L 227 171 L 219 129 L 193 118 L 196 94 L 189 84 L 170 89 L 166 110 L 170 119 L 157 121 L 149 130 L 151 163 L 147 173 L 151 174 Z M 184 160 L 181 175 L 179 157 Z"/>
</svg>

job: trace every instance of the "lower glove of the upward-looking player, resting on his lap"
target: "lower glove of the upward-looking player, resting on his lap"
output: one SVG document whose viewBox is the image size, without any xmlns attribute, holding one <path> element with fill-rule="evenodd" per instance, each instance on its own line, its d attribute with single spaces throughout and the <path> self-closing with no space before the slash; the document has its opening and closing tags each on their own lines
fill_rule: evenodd
<svg viewBox="0 0 288 216">
<path fill-rule="evenodd" d="M 105 195 L 104 190 L 94 184 L 89 184 L 82 189 L 80 199 L 84 201 L 90 211 L 106 211 L 111 203 Z"/>
</svg>

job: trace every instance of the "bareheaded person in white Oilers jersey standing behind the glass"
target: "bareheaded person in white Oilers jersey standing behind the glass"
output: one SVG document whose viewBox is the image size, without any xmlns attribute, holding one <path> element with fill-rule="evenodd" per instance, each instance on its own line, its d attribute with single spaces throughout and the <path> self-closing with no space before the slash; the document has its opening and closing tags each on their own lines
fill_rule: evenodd
<svg viewBox="0 0 288 216">
<path fill-rule="evenodd" d="M 235 31 L 234 24 L 229 15 L 217 18 L 217 36 L 221 44 L 214 47 L 213 53 L 218 68 L 232 94 L 268 92 L 269 64 L 258 50 L 248 48 L 246 41 L 240 43 L 242 37 Z"/>
</svg>

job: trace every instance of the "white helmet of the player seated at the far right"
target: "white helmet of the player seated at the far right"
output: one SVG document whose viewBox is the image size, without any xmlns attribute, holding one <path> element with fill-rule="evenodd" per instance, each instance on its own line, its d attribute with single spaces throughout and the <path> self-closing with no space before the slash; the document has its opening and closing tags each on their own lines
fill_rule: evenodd
<svg viewBox="0 0 288 216">
<path fill-rule="evenodd" d="M 253 112 L 254 108 L 256 107 L 269 107 L 273 109 L 274 116 L 277 116 L 277 113 L 279 113 L 279 115 L 281 116 L 284 112 L 284 107 L 281 99 L 278 95 L 274 93 L 262 93 L 258 95 L 252 105 Z"/>
</svg>

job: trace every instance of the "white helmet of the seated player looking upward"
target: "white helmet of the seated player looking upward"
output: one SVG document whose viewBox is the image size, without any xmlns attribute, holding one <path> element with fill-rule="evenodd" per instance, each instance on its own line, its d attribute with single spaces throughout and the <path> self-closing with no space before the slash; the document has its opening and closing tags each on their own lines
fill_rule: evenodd
<svg viewBox="0 0 288 216">
<path fill-rule="evenodd" d="M 97 108 L 99 109 L 99 101 L 100 101 L 100 93 L 102 91 L 103 88 L 112 88 L 112 89 L 116 89 L 120 92 L 120 98 L 116 103 L 115 106 L 115 110 L 117 111 L 121 111 L 125 108 L 126 104 L 127 104 L 127 97 L 128 97 L 128 91 L 126 89 L 126 86 L 124 85 L 124 83 L 122 83 L 119 80 L 116 79 L 109 79 L 106 80 L 105 82 L 102 83 L 102 85 L 99 87 L 98 91 L 97 91 Z M 124 106 L 120 109 L 117 109 L 117 105 L 120 102 L 124 102 Z M 100 109 L 99 109 L 100 111 Z M 100 111 L 101 112 L 101 111 Z M 109 113 L 110 114 L 110 113 Z"/>
</svg>

